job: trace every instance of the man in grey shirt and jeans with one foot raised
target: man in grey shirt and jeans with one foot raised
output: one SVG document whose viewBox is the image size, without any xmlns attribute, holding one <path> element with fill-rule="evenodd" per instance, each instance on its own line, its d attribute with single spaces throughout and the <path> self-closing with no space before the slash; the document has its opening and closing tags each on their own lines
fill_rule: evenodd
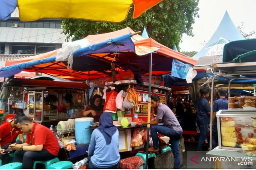
<svg viewBox="0 0 256 170">
<path fill-rule="evenodd" d="M 151 97 L 151 106 L 155 109 L 157 108 L 157 117 L 156 119 L 151 120 L 151 137 L 153 140 L 152 148 L 149 148 L 150 152 L 158 152 L 159 151 L 159 138 L 157 133 L 170 137 L 170 143 L 172 145 L 172 151 L 174 155 L 174 168 L 180 168 L 180 138 L 182 136 L 182 128 L 177 120 L 174 113 L 171 109 L 165 104 L 160 103 L 160 98 L 156 95 Z M 163 122 L 165 126 L 158 126 L 159 122 Z M 144 122 L 143 124 L 147 124 Z"/>
</svg>

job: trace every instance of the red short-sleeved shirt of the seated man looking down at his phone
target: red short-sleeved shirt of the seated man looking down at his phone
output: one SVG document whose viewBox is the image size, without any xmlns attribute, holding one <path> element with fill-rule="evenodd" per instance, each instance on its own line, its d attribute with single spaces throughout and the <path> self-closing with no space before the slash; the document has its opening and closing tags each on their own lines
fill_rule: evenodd
<svg viewBox="0 0 256 170">
<path fill-rule="evenodd" d="M 43 145 L 43 149 L 46 149 L 54 156 L 58 156 L 58 139 L 50 129 L 38 124 L 37 122 L 34 122 L 32 132 L 27 133 L 26 143 L 32 143 L 32 145 Z"/>
</svg>

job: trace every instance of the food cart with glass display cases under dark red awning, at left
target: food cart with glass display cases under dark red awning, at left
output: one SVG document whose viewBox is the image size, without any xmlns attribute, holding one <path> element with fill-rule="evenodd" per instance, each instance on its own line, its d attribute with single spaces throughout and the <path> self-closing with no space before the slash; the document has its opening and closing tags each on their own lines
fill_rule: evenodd
<svg viewBox="0 0 256 170">
<path fill-rule="evenodd" d="M 58 121 L 81 117 L 84 108 L 84 83 L 49 80 L 9 79 L 6 87 L 18 87 L 23 103 L 14 106 L 38 123 L 48 126 Z M 21 90 L 22 89 L 22 90 Z M 21 98 L 20 98 L 21 100 Z M 16 104 L 15 104 L 16 105 Z M 65 108 L 60 107 L 65 105 Z"/>
</svg>

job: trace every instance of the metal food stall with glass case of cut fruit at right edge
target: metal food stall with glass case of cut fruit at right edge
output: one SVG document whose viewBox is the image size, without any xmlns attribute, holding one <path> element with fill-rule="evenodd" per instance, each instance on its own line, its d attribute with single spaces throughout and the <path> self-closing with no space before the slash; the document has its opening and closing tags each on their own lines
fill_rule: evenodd
<svg viewBox="0 0 256 170">
<path fill-rule="evenodd" d="M 224 54 L 230 58 L 242 56 L 244 46 L 227 50 L 233 45 L 239 44 L 239 41 L 231 42 L 225 45 Z M 245 47 L 246 48 L 246 47 Z M 227 51 L 226 51 L 227 50 Z M 223 61 L 227 60 L 227 56 L 223 57 Z M 244 56 L 243 56 L 244 57 Z M 242 58 L 243 58 L 242 57 Z M 211 80 L 211 106 L 214 101 L 214 81 L 218 77 L 228 80 L 229 86 L 229 109 L 220 110 L 216 114 L 218 129 L 218 147 L 207 153 L 209 157 L 233 158 L 233 161 L 219 161 L 215 159 L 214 168 L 252 168 L 255 169 L 256 163 L 256 97 L 242 96 L 230 97 L 231 83 L 246 80 L 255 80 L 256 63 L 254 61 L 234 63 L 214 63 L 207 67 L 214 70 L 215 74 Z M 231 59 L 230 59 L 231 60 Z M 236 60 L 238 60 L 236 58 Z M 202 68 L 202 66 L 195 66 Z M 212 129 L 213 107 L 211 107 L 210 129 Z M 212 144 L 212 132 L 210 132 L 210 149 Z M 226 163 L 227 162 L 227 163 Z"/>
</svg>

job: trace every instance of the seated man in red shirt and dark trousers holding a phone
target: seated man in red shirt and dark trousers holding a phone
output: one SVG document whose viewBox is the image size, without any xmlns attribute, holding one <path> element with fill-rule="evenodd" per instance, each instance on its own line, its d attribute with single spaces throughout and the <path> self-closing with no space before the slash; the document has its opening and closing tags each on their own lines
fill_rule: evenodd
<svg viewBox="0 0 256 170">
<path fill-rule="evenodd" d="M 15 123 L 17 128 L 26 133 L 26 142 L 12 144 L 10 148 L 16 150 L 14 162 L 21 162 L 23 169 L 31 169 L 33 161 L 50 160 L 58 156 L 58 139 L 51 130 L 26 116 L 19 117 Z"/>
</svg>

